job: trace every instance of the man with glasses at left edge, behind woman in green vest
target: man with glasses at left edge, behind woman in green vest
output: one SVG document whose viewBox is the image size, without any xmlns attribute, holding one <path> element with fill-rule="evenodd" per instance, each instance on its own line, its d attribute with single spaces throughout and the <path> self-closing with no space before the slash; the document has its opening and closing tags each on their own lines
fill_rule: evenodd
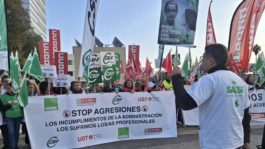
<svg viewBox="0 0 265 149">
<path fill-rule="evenodd" d="M 1 93 L 2 95 L 6 93 L 6 84 L 8 84 L 9 82 L 9 77 L 4 76 L 1 78 L 1 80 L 3 82 L 3 90 Z M 1 134 L 3 136 L 3 144 L 4 144 L 4 147 L 2 149 L 9 148 L 10 145 L 9 145 L 9 138 L 8 138 L 8 129 L 7 129 L 6 121 L 3 122 L 3 116 L 1 113 L 0 113 L 0 129 L 1 129 Z"/>
</svg>

